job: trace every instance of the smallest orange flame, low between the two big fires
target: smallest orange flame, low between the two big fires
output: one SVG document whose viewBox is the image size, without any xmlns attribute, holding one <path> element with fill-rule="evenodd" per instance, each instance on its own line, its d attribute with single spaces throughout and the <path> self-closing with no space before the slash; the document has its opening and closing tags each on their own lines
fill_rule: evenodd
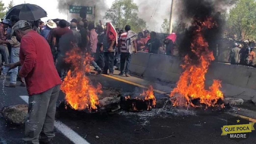
<svg viewBox="0 0 256 144">
<path fill-rule="evenodd" d="M 140 94 L 140 96 L 144 96 L 144 99 L 140 99 L 138 97 L 136 97 L 134 99 L 146 102 L 147 110 L 150 110 L 152 107 L 155 107 L 155 105 L 156 105 L 156 98 L 155 98 L 155 95 L 154 95 L 153 86 L 150 85 L 148 87 L 147 91 L 143 90 L 143 93 Z M 126 96 L 125 97 L 125 100 L 128 100 L 128 99 L 131 99 L 130 96 Z M 136 107 L 136 103 L 135 102 L 132 103 L 132 109 L 133 109 L 133 111 L 137 111 L 137 107 Z"/>
</svg>

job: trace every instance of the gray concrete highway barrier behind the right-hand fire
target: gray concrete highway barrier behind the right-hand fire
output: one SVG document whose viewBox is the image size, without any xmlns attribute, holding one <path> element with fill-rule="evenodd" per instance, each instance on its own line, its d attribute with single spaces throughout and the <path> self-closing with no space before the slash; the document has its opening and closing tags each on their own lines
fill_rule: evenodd
<svg viewBox="0 0 256 144">
<path fill-rule="evenodd" d="M 177 82 L 183 71 L 180 67 L 182 62 L 180 57 L 138 52 L 132 57 L 130 70 L 144 77 Z M 256 103 L 256 68 L 212 62 L 206 74 L 206 87 L 214 79 L 222 81 L 221 90 L 226 97 L 242 98 Z"/>
</svg>

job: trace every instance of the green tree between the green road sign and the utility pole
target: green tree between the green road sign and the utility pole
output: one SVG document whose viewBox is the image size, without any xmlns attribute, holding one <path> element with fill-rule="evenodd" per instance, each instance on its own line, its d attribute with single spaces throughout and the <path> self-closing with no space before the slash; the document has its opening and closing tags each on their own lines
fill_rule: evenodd
<svg viewBox="0 0 256 144">
<path fill-rule="evenodd" d="M 129 24 L 134 32 L 142 32 L 146 22 L 137 15 L 138 6 L 133 0 L 115 0 L 104 18 L 111 20 L 116 28 L 124 29 Z"/>
</svg>

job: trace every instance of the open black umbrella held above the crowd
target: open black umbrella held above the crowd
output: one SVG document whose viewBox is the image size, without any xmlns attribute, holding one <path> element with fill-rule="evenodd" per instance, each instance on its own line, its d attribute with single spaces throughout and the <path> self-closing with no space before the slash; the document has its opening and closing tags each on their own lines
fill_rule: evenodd
<svg viewBox="0 0 256 144">
<path fill-rule="evenodd" d="M 47 13 L 44 9 L 33 4 L 21 4 L 14 6 L 7 12 L 5 19 L 10 19 L 10 16 L 12 15 L 16 15 L 20 20 L 25 21 L 36 21 L 40 18 L 47 17 Z"/>
</svg>

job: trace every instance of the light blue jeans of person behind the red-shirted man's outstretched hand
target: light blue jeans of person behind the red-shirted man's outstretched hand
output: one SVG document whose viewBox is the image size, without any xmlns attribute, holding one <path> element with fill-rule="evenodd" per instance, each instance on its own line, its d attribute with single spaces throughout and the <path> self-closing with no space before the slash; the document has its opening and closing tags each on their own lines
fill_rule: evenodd
<svg viewBox="0 0 256 144">
<path fill-rule="evenodd" d="M 19 47 L 12 47 L 11 49 L 11 63 L 17 63 L 19 61 Z M 17 83 L 17 75 L 18 75 L 18 67 L 15 67 L 12 70 L 10 75 L 10 83 L 16 84 Z"/>
</svg>

